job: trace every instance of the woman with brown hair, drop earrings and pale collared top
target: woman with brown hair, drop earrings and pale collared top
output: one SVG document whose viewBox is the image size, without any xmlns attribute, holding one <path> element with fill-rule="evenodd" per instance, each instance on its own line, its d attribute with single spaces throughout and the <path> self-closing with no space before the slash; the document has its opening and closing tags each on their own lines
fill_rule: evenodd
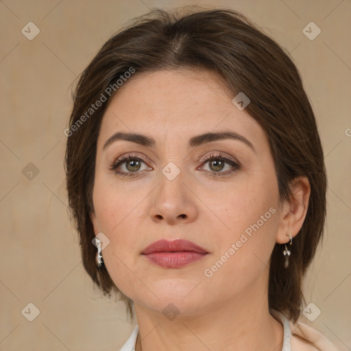
<svg viewBox="0 0 351 351">
<path fill-rule="evenodd" d="M 66 135 L 84 267 L 136 313 L 121 350 L 336 350 L 298 323 L 326 173 L 274 40 L 231 10 L 153 11 L 86 68 Z"/>
</svg>

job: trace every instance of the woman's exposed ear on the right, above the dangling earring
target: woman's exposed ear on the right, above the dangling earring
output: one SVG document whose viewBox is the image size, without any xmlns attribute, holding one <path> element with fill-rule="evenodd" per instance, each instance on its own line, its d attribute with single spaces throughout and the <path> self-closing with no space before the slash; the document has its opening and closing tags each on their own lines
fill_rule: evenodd
<svg viewBox="0 0 351 351">
<path fill-rule="evenodd" d="M 289 186 L 292 196 L 282 203 L 280 223 L 276 235 L 276 242 L 280 244 L 289 242 L 287 233 L 291 237 L 295 237 L 302 228 L 311 194 L 310 182 L 305 176 L 293 179 Z"/>
</svg>

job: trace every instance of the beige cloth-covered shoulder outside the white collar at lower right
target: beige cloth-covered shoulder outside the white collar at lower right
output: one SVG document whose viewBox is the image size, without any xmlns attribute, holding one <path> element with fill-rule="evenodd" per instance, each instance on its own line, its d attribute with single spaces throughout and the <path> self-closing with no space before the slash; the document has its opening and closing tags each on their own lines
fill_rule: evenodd
<svg viewBox="0 0 351 351">
<path fill-rule="evenodd" d="M 289 322 L 291 351 L 339 351 L 323 334 L 307 324 Z"/>
</svg>

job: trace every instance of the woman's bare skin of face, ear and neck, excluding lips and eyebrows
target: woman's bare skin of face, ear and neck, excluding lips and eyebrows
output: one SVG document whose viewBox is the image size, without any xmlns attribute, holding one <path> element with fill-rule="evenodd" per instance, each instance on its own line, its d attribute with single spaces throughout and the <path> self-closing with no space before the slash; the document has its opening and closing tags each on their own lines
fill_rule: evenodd
<svg viewBox="0 0 351 351">
<path fill-rule="evenodd" d="M 287 232 L 294 237 L 300 230 L 310 187 L 299 178 L 291 183 L 295 198 L 280 201 L 267 136 L 232 104 L 233 97 L 208 71 L 158 71 L 128 80 L 104 114 L 91 219 L 95 234 L 103 232 L 110 240 L 102 252 L 104 263 L 117 287 L 134 301 L 143 350 L 281 348 L 282 325 L 269 314 L 267 302 L 269 256 L 276 243 L 289 242 Z M 254 149 L 229 138 L 188 145 L 195 135 L 223 131 L 244 136 Z M 116 132 L 145 134 L 156 145 L 119 140 L 104 149 Z M 134 175 L 110 169 L 129 153 L 145 158 L 140 169 L 125 162 L 119 166 Z M 228 173 L 228 163 L 221 169 L 204 162 L 204 156 L 219 153 L 240 168 Z M 162 173 L 169 162 L 180 171 L 173 180 Z M 274 215 L 206 277 L 204 270 L 272 207 Z M 158 239 L 187 239 L 208 254 L 178 269 L 162 268 L 141 255 Z M 162 313 L 170 303 L 179 313 L 173 320 Z"/>
</svg>

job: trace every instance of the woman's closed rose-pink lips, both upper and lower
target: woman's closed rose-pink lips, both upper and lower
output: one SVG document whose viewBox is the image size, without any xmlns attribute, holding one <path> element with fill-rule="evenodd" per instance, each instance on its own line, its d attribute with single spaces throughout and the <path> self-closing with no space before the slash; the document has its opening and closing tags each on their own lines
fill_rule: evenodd
<svg viewBox="0 0 351 351">
<path fill-rule="evenodd" d="M 191 241 L 165 239 L 155 241 L 142 252 L 152 263 L 164 268 L 180 268 L 199 261 L 208 252 Z"/>
</svg>

